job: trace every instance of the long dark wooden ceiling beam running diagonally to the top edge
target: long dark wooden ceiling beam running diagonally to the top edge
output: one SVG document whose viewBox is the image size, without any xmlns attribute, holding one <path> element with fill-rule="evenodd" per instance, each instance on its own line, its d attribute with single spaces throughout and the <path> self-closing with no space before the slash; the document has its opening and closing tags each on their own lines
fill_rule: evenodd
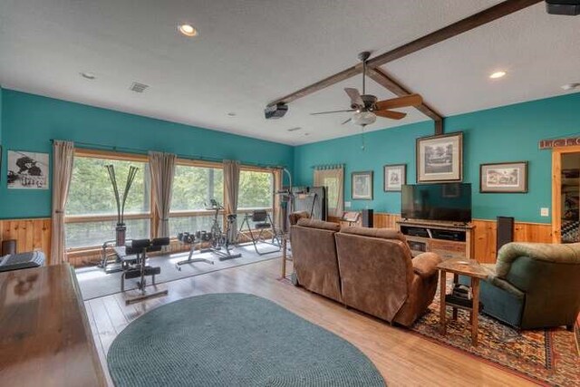
<svg viewBox="0 0 580 387">
<path fill-rule="evenodd" d="M 457 23 L 450 24 L 431 34 L 427 34 L 423 37 L 420 37 L 419 39 L 416 39 L 409 44 L 403 44 L 400 47 L 397 47 L 388 53 L 382 53 L 381 55 L 372 58 L 369 61 L 370 67 L 378 67 L 384 63 L 394 61 L 395 59 L 400 59 L 405 55 L 409 55 L 410 53 L 416 53 L 433 44 L 441 43 L 453 36 L 463 34 L 465 32 L 468 32 L 469 30 L 477 28 L 480 25 L 490 23 L 503 16 L 513 14 L 519 10 L 527 8 L 528 6 L 531 5 L 536 5 L 537 3 L 540 3 L 542 1 L 543 0 L 504 1 L 503 3 L 499 3 L 498 5 L 491 6 L 488 9 L 481 11 L 478 14 L 474 14 L 465 19 L 462 19 Z M 285 103 L 293 102 L 298 98 L 303 98 L 306 95 L 323 90 L 329 86 L 332 86 L 333 84 L 343 82 L 359 73 L 362 73 L 362 66 L 355 65 L 349 67 L 348 69 L 343 70 L 340 73 L 335 73 L 327 78 L 324 78 L 324 80 L 315 82 L 309 86 L 300 89 L 297 92 L 292 92 L 288 95 L 285 95 L 282 98 L 278 98 L 277 100 L 268 103 L 268 106 L 275 105 L 276 103 L 280 102 Z"/>
</svg>

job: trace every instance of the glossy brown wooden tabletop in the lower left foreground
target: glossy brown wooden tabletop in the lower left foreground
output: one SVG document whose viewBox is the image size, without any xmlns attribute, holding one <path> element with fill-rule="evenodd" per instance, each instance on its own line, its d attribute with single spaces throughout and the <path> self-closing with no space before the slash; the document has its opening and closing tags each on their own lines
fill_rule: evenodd
<svg viewBox="0 0 580 387">
<path fill-rule="evenodd" d="M 0 329 L 0 384 L 106 384 L 68 264 L 1 273 Z"/>
</svg>

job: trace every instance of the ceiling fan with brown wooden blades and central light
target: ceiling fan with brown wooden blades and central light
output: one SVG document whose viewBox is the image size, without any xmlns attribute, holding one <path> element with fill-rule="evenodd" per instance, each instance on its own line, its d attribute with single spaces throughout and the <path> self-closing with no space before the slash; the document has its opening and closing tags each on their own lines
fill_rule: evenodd
<svg viewBox="0 0 580 387">
<path fill-rule="evenodd" d="M 377 116 L 389 118 L 391 120 L 401 120 L 407 113 L 401 111 L 391 111 L 391 109 L 404 108 L 408 106 L 418 106 L 423 103 L 423 99 L 419 94 L 410 94 L 403 97 L 392 98 L 391 100 L 378 101 L 377 97 L 365 93 L 365 79 L 366 79 L 366 62 L 371 56 L 368 51 L 359 53 L 358 58 L 362 62 L 362 94 L 353 88 L 347 87 L 344 92 L 351 98 L 351 109 L 343 111 L 320 111 L 311 113 L 311 115 L 319 114 L 333 114 L 353 111 L 353 117 L 343 122 L 348 123 L 353 121 L 356 125 L 366 126 L 374 123 Z"/>
</svg>

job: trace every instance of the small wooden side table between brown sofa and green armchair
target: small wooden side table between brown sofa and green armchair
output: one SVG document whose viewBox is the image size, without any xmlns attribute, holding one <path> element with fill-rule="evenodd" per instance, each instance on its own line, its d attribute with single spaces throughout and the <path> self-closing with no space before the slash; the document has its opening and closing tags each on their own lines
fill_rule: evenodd
<svg viewBox="0 0 580 387">
<path fill-rule="evenodd" d="M 446 287 L 447 273 L 453 274 L 453 282 L 457 283 L 459 276 L 469 276 L 471 280 L 471 307 L 465 305 L 449 304 L 453 307 L 453 319 L 457 319 L 458 308 L 470 311 L 471 321 L 471 343 L 478 345 L 478 314 L 479 314 L 479 280 L 488 277 L 488 273 L 478 264 L 475 259 L 451 258 L 441 262 L 437 268 L 440 270 L 440 331 L 446 334 L 447 331 L 447 310 L 446 310 Z"/>
</svg>

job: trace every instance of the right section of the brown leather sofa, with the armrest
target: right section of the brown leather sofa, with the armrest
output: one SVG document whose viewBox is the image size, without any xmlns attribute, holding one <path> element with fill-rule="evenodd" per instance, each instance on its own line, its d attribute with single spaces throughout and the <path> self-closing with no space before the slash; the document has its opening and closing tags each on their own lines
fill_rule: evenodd
<svg viewBox="0 0 580 387">
<path fill-rule="evenodd" d="M 343 227 L 336 247 L 345 305 L 409 326 L 433 301 L 441 258 L 423 253 L 413 259 L 401 232 Z"/>
</svg>

